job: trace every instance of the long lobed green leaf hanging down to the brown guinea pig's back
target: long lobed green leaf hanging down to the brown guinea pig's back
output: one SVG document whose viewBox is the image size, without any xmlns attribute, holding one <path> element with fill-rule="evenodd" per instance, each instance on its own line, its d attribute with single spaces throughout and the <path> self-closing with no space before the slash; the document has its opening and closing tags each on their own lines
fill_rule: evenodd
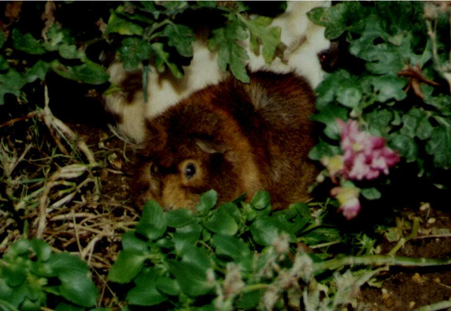
<svg viewBox="0 0 451 311">
<path fill-rule="evenodd" d="M 245 49 L 238 45 L 238 41 L 246 38 L 246 31 L 236 17 L 230 13 L 229 21 L 225 27 L 212 31 L 212 36 L 208 39 L 208 49 L 213 51 L 219 47 L 219 68 L 226 71 L 228 65 L 235 78 L 241 82 L 249 83 L 249 76 L 243 63 L 243 61 L 249 59 L 249 55 L 247 55 Z"/>
</svg>

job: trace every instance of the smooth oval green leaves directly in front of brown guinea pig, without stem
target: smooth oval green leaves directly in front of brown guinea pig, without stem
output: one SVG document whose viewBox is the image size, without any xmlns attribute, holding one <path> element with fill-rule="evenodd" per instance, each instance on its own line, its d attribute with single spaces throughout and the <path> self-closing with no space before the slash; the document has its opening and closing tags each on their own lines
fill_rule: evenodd
<svg viewBox="0 0 451 311">
<path fill-rule="evenodd" d="M 271 262 L 281 260 L 278 264 L 284 271 L 294 264 L 282 256 L 291 243 L 342 239 L 337 229 L 315 220 L 305 203 L 271 212 L 266 191 L 258 192 L 249 203 L 237 199 L 215 209 L 216 200 L 214 190 L 204 193 L 198 213 L 163 212 L 156 202 L 145 204 L 136 231 L 122 236 L 123 249 L 108 274 L 111 281 L 133 284 L 126 294 L 130 305 L 157 307 L 170 301 L 174 308 L 192 308 L 194 303 L 207 309 L 213 303 L 232 309 L 255 308 L 275 278 L 265 277 Z M 251 220 L 249 210 L 255 213 Z M 228 300 L 221 302 L 220 293 L 227 291 L 225 278 L 232 267 L 238 269 L 244 290 L 229 289 Z M 250 290 L 253 287 L 262 290 Z M 212 300 L 215 295 L 216 302 Z M 282 295 L 277 299 L 283 304 Z"/>
</svg>

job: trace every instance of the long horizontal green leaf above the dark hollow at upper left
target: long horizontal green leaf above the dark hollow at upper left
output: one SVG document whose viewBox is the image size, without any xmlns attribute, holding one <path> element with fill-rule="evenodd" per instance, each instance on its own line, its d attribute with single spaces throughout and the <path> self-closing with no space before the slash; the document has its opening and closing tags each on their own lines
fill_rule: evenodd
<svg viewBox="0 0 451 311">
<path fill-rule="evenodd" d="M 78 66 L 66 66 L 55 60 L 51 63 L 51 66 L 53 71 L 61 77 L 77 82 L 102 84 L 109 79 L 104 67 L 89 60 L 86 60 L 85 64 Z"/>
</svg>

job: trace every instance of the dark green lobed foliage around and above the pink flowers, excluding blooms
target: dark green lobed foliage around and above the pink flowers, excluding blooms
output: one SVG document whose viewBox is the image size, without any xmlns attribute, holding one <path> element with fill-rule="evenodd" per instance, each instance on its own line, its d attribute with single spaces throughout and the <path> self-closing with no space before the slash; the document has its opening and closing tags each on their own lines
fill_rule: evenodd
<svg viewBox="0 0 451 311">
<path fill-rule="evenodd" d="M 336 118 L 352 116 L 398 150 L 401 165 L 416 163 L 418 175 L 426 172 L 433 177 L 432 172 L 451 167 L 450 90 L 443 87 L 447 83 L 434 60 L 436 53 L 445 62 L 450 47 L 445 44 L 434 51 L 423 6 L 415 1 L 371 5 L 350 1 L 308 13 L 313 22 L 326 27 L 327 38 L 346 38 L 349 57 L 362 62 L 359 68 L 343 64 L 317 87 L 319 112 L 312 119 L 325 125 L 327 138 L 313 147 L 311 159 L 342 153 Z M 444 13 L 437 15 L 440 20 Z M 436 38 L 449 37 L 449 26 L 436 23 Z M 362 189 L 362 195 L 381 196 L 370 189 Z"/>
</svg>

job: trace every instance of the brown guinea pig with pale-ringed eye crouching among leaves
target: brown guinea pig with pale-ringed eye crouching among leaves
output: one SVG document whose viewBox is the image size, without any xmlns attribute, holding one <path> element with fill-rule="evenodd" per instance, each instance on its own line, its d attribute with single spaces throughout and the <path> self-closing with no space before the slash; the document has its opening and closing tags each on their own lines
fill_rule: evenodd
<svg viewBox="0 0 451 311">
<path fill-rule="evenodd" d="M 134 187 L 139 204 L 194 209 L 209 189 L 219 203 L 264 189 L 278 207 L 309 197 L 312 88 L 294 73 L 249 76 L 250 83 L 228 78 L 207 86 L 147 120 Z"/>
</svg>

